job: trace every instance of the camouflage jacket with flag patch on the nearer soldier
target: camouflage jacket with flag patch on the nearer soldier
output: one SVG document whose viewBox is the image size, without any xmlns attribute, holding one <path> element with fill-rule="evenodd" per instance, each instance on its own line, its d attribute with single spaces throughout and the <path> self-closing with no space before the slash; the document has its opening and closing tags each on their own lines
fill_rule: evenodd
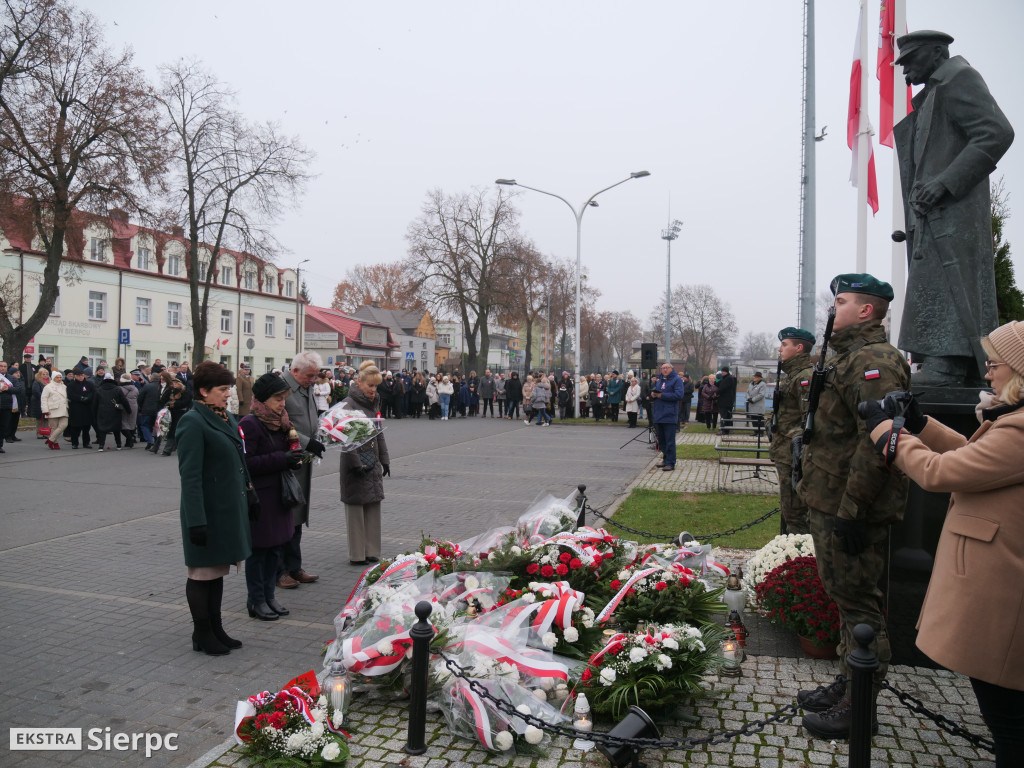
<svg viewBox="0 0 1024 768">
<path fill-rule="evenodd" d="M 833 334 L 836 356 L 804 451 L 804 479 L 797 492 L 811 509 L 886 524 L 902 518 L 908 481 L 886 469 L 874 451 L 857 403 L 909 389 L 910 367 L 886 341 L 878 321 Z"/>
</svg>

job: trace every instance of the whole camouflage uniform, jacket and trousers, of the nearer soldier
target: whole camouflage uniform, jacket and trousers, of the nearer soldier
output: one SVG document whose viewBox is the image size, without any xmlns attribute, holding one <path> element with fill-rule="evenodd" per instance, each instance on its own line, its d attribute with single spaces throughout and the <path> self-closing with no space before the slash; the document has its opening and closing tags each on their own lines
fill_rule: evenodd
<svg viewBox="0 0 1024 768">
<path fill-rule="evenodd" d="M 881 682 L 892 652 L 879 580 L 886 565 L 888 526 L 903 516 L 908 481 L 886 468 L 857 415 L 857 404 L 909 389 L 910 367 L 886 341 L 879 321 L 838 331 L 829 343 L 837 354 L 827 368 L 797 490 L 810 509 L 818 573 L 839 606 L 843 674 L 850 675 L 846 656 L 857 647 L 853 628 L 864 623 L 876 631 L 872 650 L 880 663 L 876 681 Z M 867 546 L 862 552 L 841 551 L 837 518 L 866 523 Z"/>
</svg>

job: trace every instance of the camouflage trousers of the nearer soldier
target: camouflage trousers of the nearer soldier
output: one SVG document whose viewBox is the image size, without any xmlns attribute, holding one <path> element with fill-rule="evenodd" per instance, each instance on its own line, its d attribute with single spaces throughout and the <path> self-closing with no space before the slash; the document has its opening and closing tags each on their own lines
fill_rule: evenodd
<svg viewBox="0 0 1024 768">
<path fill-rule="evenodd" d="M 869 647 L 879 658 L 879 669 L 874 673 L 878 686 L 885 679 L 892 658 L 889 631 L 883 614 L 885 596 L 879 586 L 889 555 L 889 526 L 868 525 L 867 547 L 857 555 L 848 555 L 837 544 L 836 515 L 812 509 L 810 524 L 818 575 L 825 592 L 839 606 L 840 669 L 850 677 L 846 657 L 857 649 L 853 628 L 858 624 L 869 625 L 874 629 L 874 642 Z"/>
</svg>

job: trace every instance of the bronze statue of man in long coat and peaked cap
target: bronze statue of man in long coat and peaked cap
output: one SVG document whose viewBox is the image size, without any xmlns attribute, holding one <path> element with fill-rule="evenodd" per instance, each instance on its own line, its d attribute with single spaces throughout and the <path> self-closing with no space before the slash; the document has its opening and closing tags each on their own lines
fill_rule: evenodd
<svg viewBox="0 0 1024 768">
<path fill-rule="evenodd" d="M 897 40 L 907 85 L 924 84 L 894 129 L 906 216 L 907 284 L 899 347 L 914 386 L 985 386 L 980 337 L 998 325 L 988 176 L 1014 130 L 953 39 Z"/>
</svg>

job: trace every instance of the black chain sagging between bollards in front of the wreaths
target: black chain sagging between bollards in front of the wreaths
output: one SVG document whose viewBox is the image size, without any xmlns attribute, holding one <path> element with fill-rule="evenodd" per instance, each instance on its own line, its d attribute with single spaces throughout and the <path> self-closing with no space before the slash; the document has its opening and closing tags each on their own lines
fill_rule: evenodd
<svg viewBox="0 0 1024 768">
<path fill-rule="evenodd" d="M 492 701 L 498 710 L 505 713 L 509 717 L 520 718 L 527 725 L 532 725 L 557 736 L 565 736 L 566 738 L 582 738 L 587 741 L 607 744 L 609 746 L 632 746 L 639 750 L 692 750 L 706 744 L 721 744 L 726 741 L 730 741 L 736 736 L 749 736 L 753 733 L 763 731 L 767 726 L 772 725 L 773 723 L 788 723 L 797 717 L 800 712 L 800 708 L 797 705 L 786 705 L 780 710 L 773 712 L 764 720 L 755 720 L 749 723 L 743 723 L 739 728 L 733 730 L 713 731 L 707 736 L 683 739 L 627 738 L 624 736 L 612 736 L 610 733 L 584 733 L 582 731 L 578 731 L 575 728 L 564 725 L 555 725 L 547 722 L 546 720 L 542 720 L 536 715 L 525 715 L 519 712 L 511 701 L 495 696 L 489 690 L 487 690 L 486 686 L 466 675 L 466 671 L 460 667 L 456 660 L 450 658 L 443 652 L 439 652 L 439 655 L 444 659 L 444 665 L 449 668 L 449 671 L 453 675 L 465 680 L 474 692 L 478 693 L 483 698 L 486 698 L 488 701 Z M 827 688 L 827 685 L 820 685 L 814 692 L 824 692 Z"/>
</svg>

